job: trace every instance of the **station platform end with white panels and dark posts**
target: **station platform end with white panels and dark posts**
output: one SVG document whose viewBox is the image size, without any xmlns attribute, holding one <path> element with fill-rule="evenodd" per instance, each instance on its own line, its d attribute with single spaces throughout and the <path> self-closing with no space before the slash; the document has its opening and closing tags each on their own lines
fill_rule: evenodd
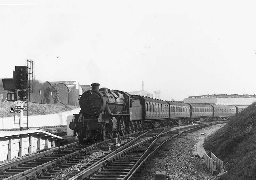
<svg viewBox="0 0 256 180">
<path fill-rule="evenodd" d="M 42 130 L 1 131 L 0 161 L 58 147 L 64 141 L 64 138 Z"/>
</svg>

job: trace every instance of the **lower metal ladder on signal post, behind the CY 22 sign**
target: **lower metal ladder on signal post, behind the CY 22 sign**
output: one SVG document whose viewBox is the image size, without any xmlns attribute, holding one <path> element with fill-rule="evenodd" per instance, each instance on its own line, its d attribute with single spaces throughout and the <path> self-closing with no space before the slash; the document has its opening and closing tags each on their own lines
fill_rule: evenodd
<svg viewBox="0 0 256 180">
<path fill-rule="evenodd" d="M 26 126 L 23 126 L 26 124 Z M 23 124 L 21 124 L 24 128 L 27 127 L 28 129 L 28 101 L 24 102 L 23 105 Z M 15 106 L 14 109 L 14 125 L 13 129 L 20 128 L 20 106 Z"/>
</svg>

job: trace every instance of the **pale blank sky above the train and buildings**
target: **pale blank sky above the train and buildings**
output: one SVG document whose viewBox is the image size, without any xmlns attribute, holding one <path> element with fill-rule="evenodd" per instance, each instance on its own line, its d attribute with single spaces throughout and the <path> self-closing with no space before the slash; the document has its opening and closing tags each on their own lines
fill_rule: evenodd
<svg viewBox="0 0 256 180">
<path fill-rule="evenodd" d="M 255 1 L 60 2 L 1 2 L 1 78 L 31 59 L 41 81 L 123 91 L 144 81 L 176 101 L 256 94 Z"/>
</svg>

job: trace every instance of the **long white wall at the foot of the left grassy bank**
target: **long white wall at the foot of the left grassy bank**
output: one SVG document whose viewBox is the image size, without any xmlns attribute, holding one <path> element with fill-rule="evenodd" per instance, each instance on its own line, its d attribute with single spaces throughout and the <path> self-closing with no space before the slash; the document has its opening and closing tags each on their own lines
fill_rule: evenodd
<svg viewBox="0 0 256 180">
<path fill-rule="evenodd" d="M 66 125 L 66 116 L 78 114 L 79 112 L 80 108 L 77 108 L 72 111 L 66 111 L 57 114 L 28 116 L 28 127 Z M 0 118 L 0 129 L 12 129 L 13 123 L 14 117 Z M 23 127 L 27 127 L 27 124 L 23 124 Z"/>
</svg>

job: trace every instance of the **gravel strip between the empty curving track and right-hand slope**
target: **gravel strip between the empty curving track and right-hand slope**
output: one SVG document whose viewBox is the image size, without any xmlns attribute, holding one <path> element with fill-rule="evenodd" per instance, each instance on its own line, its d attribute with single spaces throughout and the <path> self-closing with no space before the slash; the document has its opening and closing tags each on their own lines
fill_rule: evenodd
<svg viewBox="0 0 256 180">
<path fill-rule="evenodd" d="M 171 148 L 165 157 L 153 157 L 144 166 L 144 171 L 137 177 L 140 180 L 154 180 L 156 171 L 166 171 L 168 180 L 217 180 L 216 176 L 210 174 L 202 159 L 197 158 L 193 154 L 194 145 L 197 143 L 200 133 L 206 133 L 212 128 L 203 128 L 187 136 L 175 138 L 174 141 L 167 143 L 166 148 Z M 152 163 L 154 162 L 154 163 Z"/>
</svg>

